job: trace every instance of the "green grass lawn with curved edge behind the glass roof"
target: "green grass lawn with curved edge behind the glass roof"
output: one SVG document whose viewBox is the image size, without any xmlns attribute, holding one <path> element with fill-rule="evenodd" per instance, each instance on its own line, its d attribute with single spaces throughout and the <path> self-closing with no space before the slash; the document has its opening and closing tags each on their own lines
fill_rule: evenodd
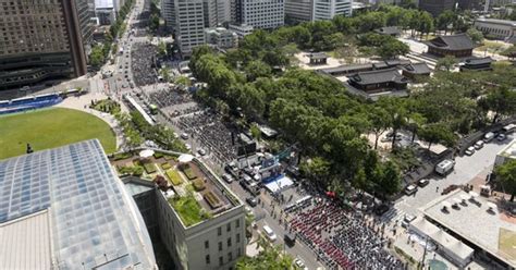
<svg viewBox="0 0 516 270">
<path fill-rule="evenodd" d="M 0 159 L 25 154 L 27 143 L 38 151 L 90 138 L 108 154 L 116 149 L 108 123 L 86 112 L 52 108 L 0 116 Z"/>
</svg>

